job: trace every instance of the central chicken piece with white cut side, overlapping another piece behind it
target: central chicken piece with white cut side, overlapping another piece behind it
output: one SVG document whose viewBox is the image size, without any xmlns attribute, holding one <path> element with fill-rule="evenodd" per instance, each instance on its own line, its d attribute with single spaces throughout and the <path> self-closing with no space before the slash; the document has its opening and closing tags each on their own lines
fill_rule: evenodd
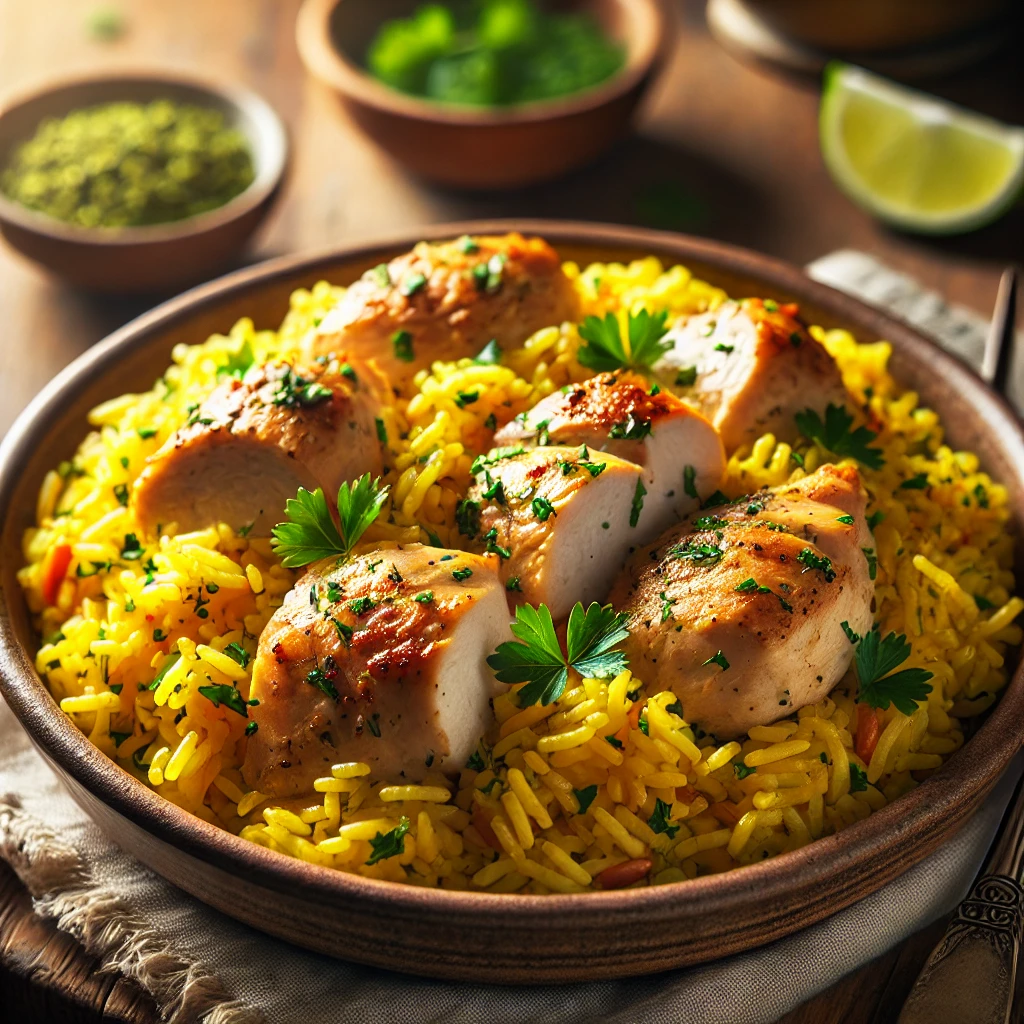
<svg viewBox="0 0 1024 1024">
<path fill-rule="evenodd" d="M 634 509 L 642 483 L 639 466 L 604 452 L 531 449 L 480 470 L 460 528 L 498 553 L 510 596 L 544 603 L 557 620 L 577 601 L 603 599 L 640 543 Z"/>
</svg>

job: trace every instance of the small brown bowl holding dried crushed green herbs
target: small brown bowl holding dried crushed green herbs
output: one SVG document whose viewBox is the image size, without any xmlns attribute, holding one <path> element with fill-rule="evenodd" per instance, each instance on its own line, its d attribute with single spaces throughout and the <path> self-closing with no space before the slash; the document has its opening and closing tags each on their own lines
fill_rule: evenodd
<svg viewBox="0 0 1024 1024">
<path fill-rule="evenodd" d="M 89 228 L 30 210 L 0 193 L 0 234 L 23 255 L 98 292 L 169 292 L 223 268 L 269 212 L 288 163 L 281 119 L 259 96 L 174 72 L 118 73 L 49 83 L 0 110 L 0 167 L 44 118 L 115 100 L 170 98 L 221 111 L 249 140 L 255 178 L 230 202 L 184 220 Z"/>
</svg>

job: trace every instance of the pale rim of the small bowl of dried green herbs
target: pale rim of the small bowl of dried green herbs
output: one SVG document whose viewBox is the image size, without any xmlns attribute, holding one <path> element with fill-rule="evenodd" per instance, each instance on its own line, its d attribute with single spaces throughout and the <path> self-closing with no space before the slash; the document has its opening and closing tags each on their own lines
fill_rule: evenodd
<svg viewBox="0 0 1024 1024">
<path fill-rule="evenodd" d="M 48 76 L 5 93 L 0 99 L 0 124 L 8 115 L 52 93 L 105 83 L 124 84 L 130 89 L 133 84 L 143 82 L 164 85 L 170 92 L 181 87 L 195 89 L 236 112 L 246 114 L 259 136 L 258 143 L 252 137 L 247 137 L 253 163 L 257 164 L 252 182 L 238 196 L 213 210 L 164 224 L 127 227 L 83 227 L 71 224 L 31 210 L 0 191 L 0 222 L 6 221 L 35 234 L 79 245 L 110 248 L 153 245 L 204 234 L 238 220 L 264 203 L 280 186 L 291 157 L 288 129 L 284 121 L 259 93 L 216 76 L 181 71 L 174 67 L 143 69 L 130 66 L 112 71 L 78 72 L 56 78 Z M 131 101 L 129 95 L 125 99 Z M 68 112 L 77 109 L 70 105 Z M 265 155 L 265 159 L 259 159 L 261 154 Z"/>
</svg>

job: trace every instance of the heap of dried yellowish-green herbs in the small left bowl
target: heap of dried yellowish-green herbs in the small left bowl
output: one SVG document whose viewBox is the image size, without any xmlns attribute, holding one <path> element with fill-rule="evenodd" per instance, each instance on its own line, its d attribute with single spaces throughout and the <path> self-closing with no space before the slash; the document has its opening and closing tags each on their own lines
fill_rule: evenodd
<svg viewBox="0 0 1024 1024">
<path fill-rule="evenodd" d="M 220 111 L 157 99 L 43 121 L 0 172 L 0 191 L 82 227 L 137 227 L 217 209 L 254 176 L 246 137 Z"/>
</svg>

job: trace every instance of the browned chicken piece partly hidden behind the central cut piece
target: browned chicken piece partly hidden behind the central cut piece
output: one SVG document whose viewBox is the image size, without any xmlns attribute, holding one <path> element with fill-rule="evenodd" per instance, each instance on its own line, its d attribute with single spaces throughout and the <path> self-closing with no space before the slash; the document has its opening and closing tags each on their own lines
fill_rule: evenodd
<svg viewBox="0 0 1024 1024">
<path fill-rule="evenodd" d="M 600 374 L 556 391 L 495 434 L 495 443 L 586 444 L 643 467 L 639 542 L 678 522 L 718 489 L 725 452 L 718 431 L 668 391 L 651 394 L 638 374 Z"/>
</svg>

